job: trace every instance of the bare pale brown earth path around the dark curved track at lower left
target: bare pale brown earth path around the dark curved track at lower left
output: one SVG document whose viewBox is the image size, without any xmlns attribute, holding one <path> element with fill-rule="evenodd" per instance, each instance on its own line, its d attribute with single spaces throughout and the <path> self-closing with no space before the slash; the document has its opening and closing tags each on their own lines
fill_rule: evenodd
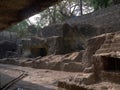
<svg viewBox="0 0 120 90">
<path fill-rule="evenodd" d="M 6 76 L 2 77 L 2 81 L 4 81 L 4 83 L 18 77 L 21 74 L 21 71 L 27 72 L 28 76 L 19 81 L 15 86 L 29 88 L 30 90 L 56 90 L 58 80 L 78 74 L 82 75 L 82 73 L 34 69 L 29 67 L 0 64 L 1 76 L 2 74 Z"/>
</svg>

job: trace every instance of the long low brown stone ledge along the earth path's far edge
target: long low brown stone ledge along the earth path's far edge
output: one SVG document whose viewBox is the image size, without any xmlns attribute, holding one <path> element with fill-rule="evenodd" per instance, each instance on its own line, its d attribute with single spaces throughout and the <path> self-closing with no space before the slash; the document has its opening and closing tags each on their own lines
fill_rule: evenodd
<svg viewBox="0 0 120 90">
<path fill-rule="evenodd" d="M 22 63 L 22 66 L 28 66 L 38 69 L 51 69 L 57 71 L 67 71 L 67 72 L 82 72 L 83 65 L 80 62 L 46 62 L 46 61 L 37 61 L 37 62 L 26 62 Z"/>
</svg>

